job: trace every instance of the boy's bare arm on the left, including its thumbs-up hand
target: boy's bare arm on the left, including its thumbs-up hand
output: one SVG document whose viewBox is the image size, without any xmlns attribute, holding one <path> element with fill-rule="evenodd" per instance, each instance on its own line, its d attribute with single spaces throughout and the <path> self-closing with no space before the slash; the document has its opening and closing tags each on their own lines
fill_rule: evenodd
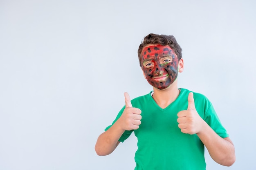
<svg viewBox="0 0 256 170">
<path fill-rule="evenodd" d="M 117 121 L 106 131 L 103 132 L 95 145 L 98 155 L 109 155 L 117 148 L 118 141 L 125 130 L 135 130 L 141 124 L 141 110 L 133 108 L 128 93 L 124 94 L 126 108 Z"/>
</svg>

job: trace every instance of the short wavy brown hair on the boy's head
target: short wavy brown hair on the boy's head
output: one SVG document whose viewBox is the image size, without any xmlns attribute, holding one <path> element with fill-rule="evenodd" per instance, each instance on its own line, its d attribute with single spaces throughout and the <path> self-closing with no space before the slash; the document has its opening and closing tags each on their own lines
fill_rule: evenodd
<svg viewBox="0 0 256 170">
<path fill-rule="evenodd" d="M 173 35 L 157 35 L 150 33 L 139 45 L 138 49 L 138 57 L 139 57 L 139 65 L 141 66 L 141 51 L 142 49 L 147 46 L 148 44 L 160 44 L 162 46 L 170 46 L 173 49 L 174 53 L 177 55 L 178 61 L 182 58 L 180 45 L 177 43 L 176 39 Z"/>
</svg>

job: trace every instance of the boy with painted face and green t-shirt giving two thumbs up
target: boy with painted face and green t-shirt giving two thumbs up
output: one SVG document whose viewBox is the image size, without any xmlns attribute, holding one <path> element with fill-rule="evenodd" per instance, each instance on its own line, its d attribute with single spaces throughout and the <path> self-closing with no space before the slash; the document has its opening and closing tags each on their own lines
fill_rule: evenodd
<svg viewBox="0 0 256 170">
<path fill-rule="evenodd" d="M 231 166 L 235 149 L 211 102 L 199 93 L 177 88 L 184 69 L 182 49 L 170 35 L 147 35 L 138 57 L 153 86 L 130 101 L 96 143 L 98 155 L 112 153 L 132 132 L 138 139 L 135 170 L 205 170 L 204 146 L 217 163 Z"/>
</svg>

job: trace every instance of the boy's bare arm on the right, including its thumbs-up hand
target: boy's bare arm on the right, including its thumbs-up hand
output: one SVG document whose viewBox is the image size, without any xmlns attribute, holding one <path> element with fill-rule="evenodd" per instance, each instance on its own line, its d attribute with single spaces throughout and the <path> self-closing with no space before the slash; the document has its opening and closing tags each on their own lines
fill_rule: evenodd
<svg viewBox="0 0 256 170">
<path fill-rule="evenodd" d="M 223 166 L 231 166 L 235 160 L 235 148 L 229 137 L 222 138 L 198 115 L 193 93 L 189 93 L 188 109 L 178 113 L 179 128 L 183 133 L 197 134 L 212 159 Z"/>
</svg>

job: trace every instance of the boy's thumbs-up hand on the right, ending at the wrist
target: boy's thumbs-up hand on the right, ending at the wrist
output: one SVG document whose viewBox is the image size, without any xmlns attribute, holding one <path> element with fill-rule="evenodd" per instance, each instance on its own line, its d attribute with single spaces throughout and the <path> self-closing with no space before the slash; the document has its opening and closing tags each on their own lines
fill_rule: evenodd
<svg viewBox="0 0 256 170">
<path fill-rule="evenodd" d="M 190 135 L 196 134 L 202 130 L 204 120 L 198 115 L 195 109 L 195 102 L 193 93 L 189 93 L 188 97 L 188 109 L 180 111 L 177 116 L 178 127 L 181 132 L 188 133 Z"/>
</svg>

